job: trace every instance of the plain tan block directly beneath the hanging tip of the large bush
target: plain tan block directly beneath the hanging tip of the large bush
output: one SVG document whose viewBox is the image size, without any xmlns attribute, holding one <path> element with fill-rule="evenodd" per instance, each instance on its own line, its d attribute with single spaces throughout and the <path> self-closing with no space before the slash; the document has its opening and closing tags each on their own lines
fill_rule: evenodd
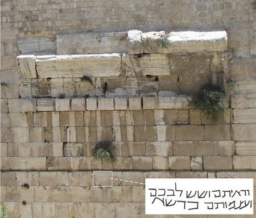
<svg viewBox="0 0 256 218">
<path fill-rule="evenodd" d="M 230 140 L 230 125 L 205 125 L 205 140 Z"/>
</svg>

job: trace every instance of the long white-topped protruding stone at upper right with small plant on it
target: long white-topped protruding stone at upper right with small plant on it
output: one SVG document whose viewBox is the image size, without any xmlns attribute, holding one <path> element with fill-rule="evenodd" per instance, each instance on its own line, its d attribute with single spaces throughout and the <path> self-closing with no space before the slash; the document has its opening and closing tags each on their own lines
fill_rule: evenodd
<svg viewBox="0 0 256 218">
<path fill-rule="evenodd" d="M 161 40 L 167 40 L 167 48 L 159 46 Z M 225 51 L 228 48 L 225 31 L 173 31 L 170 33 L 142 33 L 144 53 L 196 53 L 204 51 Z"/>
</svg>

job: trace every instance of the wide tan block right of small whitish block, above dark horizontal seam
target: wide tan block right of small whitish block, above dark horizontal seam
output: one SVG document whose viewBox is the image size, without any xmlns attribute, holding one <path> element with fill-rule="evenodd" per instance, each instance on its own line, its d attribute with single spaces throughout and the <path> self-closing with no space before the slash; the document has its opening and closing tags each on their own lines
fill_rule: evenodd
<svg viewBox="0 0 256 218">
<path fill-rule="evenodd" d="M 232 157 L 204 156 L 204 170 L 232 170 Z"/>
</svg>

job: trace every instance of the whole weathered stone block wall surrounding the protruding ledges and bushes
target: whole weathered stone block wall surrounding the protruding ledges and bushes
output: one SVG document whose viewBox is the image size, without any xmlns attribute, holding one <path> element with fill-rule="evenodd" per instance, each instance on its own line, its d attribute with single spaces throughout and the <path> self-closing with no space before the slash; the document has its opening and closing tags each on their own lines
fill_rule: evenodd
<svg viewBox="0 0 256 218">
<path fill-rule="evenodd" d="M 168 56 L 177 73 L 169 68 L 163 70 L 168 75 L 159 75 L 159 69 L 157 75 L 121 72 L 122 77 L 94 76 L 90 85 L 81 81 L 84 75 L 39 78 L 40 68 L 26 78 L 16 60 L 20 54 L 33 54 L 35 60 L 44 60 L 44 54 L 117 52 L 121 57 L 128 52 L 127 31 L 187 28 L 228 33 L 228 51 L 217 52 L 217 57 L 225 54 L 217 68 L 209 65 L 212 51 L 158 51 L 150 56 Z M 1 204 L 9 217 L 147 217 L 139 184 L 145 178 L 254 178 L 255 199 L 255 28 L 252 0 L 1 1 Z M 177 65 L 179 58 L 183 64 L 189 60 L 188 74 Z M 150 58 L 142 54 L 141 59 Z M 219 66 L 225 66 L 224 72 L 214 74 Z M 217 124 L 188 104 L 188 95 L 201 86 L 196 79 L 201 72 L 228 94 Z M 232 89 L 228 78 L 234 81 Z M 149 88 L 143 95 L 145 84 Z M 113 142 L 113 165 L 92 157 L 97 141 L 103 140 Z M 113 170 L 113 178 L 139 183 L 92 187 L 93 170 Z M 102 178 L 96 182 L 105 183 Z M 24 183 L 30 188 L 22 188 Z"/>
</svg>

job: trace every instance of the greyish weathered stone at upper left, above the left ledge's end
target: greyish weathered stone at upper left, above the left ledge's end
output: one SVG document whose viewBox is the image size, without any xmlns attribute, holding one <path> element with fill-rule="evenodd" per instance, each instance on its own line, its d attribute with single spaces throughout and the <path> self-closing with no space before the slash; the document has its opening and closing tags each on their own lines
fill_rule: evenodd
<svg viewBox="0 0 256 218">
<path fill-rule="evenodd" d="M 55 54 L 56 41 L 48 37 L 26 37 L 18 40 L 22 54 Z"/>
</svg>

